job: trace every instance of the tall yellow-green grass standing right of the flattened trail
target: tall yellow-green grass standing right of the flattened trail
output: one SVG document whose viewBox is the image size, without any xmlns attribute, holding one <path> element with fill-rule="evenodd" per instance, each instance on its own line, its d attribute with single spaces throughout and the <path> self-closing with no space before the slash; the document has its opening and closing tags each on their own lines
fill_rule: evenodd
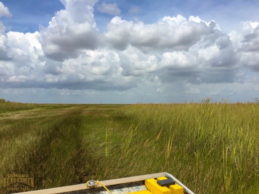
<svg viewBox="0 0 259 194">
<path fill-rule="evenodd" d="M 250 193 L 258 186 L 258 108 L 252 103 L 137 104 L 121 113 L 142 130 L 136 142 L 144 143 L 146 136 L 156 150 L 148 157 L 161 155 L 166 168 L 160 164 L 160 169 L 194 192 Z M 151 171 L 158 164 L 153 165 Z"/>
</svg>

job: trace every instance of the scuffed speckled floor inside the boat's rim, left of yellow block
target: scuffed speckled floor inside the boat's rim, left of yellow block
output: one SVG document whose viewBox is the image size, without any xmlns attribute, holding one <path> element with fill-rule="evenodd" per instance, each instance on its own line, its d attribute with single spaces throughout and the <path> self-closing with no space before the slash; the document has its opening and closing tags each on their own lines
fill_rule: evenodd
<svg viewBox="0 0 259 194">
<path fill-rule="evenodd" d="M 147 190 L 147 187 L 145 186 L 144 181 L 139 182 L 130 182 L 125 184 L 117 184 L 117 185 L 111 185 L 107 186 L 107 188 L 113 193 L 113 194 L 119 194 L 119 193 L 130 193 L 130 192 L 136 192 L 141 190 Z M 97 187 L 92 189 L 85 189 L 85 190 L 78 190 L 78 191 L 71 191 L 71 192 L 63 192 L 64 194 L 109 194 L 108 191 L 105 190 L 103 187 Z"/>
</svg>

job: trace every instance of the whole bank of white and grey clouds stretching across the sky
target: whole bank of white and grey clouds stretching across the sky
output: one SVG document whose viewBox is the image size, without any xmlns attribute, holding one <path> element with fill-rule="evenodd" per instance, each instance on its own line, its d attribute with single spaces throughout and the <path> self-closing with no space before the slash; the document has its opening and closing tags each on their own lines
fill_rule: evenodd
<svg viewBox="0 0 259 194">
<path fill-rule="evenodd" d="M 67 92 L 71 95 L 125 91 L 129 96 L 141 90 L 145 97 L 149 91 L 170 96 L 174 90 L 184 90 L 183 95 L 206 90 L 209 95 L 212 85 L 220 92 L 224 84 L 234 84 L 235 90 L 238 84 L 258 84 L 257 22 L 224 34 L 215 21 L 193 16 L 165 16 L 152 24 L 116 16 L 101 33 L 94 19 L 97 1 L 62 3 L 65 9 L 40 32 L 6 32 L 0 23 L 0 88 L 77 91 Z"/>
</svg>

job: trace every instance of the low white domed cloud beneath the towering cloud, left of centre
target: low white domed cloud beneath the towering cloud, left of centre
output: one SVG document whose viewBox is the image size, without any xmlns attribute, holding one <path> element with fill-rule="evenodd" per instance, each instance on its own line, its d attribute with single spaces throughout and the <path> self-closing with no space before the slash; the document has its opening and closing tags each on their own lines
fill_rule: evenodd
<svg viewBox="0 0 259 194">
<path fill-rule="evenodd" d="M 126 90 L 135 87 L 134 79 L 123 77 L 116 52 L 85 50 L 75 59 L 62 63 L 58 74 L 47 74 L 46 82 L 57 88 Z"/>
</svg>

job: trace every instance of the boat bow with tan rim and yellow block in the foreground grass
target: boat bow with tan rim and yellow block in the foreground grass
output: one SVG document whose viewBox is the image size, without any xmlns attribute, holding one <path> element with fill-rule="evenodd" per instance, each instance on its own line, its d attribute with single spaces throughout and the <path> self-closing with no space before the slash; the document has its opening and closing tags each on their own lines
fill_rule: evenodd
<svg viewBox="0 0 259 194">
<path fill-rule="evenodd" d="M 93 181 L 94 182 L 94 181 Z M 95 181 L 96 182 L 96 181 Z M 99 183 L 100 182 L 100 183 Z M 133 193 L 133 194 L 194 194 L 183 183 L 167 172 L 132 176 L 126 178 L 117 178 L 111 180 L 102 180 L 95 185 L 89 186 L 89 183 L 76 184 L 71 186 L 62 186 L 42 190 L 33 190 L 21 193 L 50 194 L 82 194 L 82 193 Z M 169 183 L 171 182 L 171 184 Z M 107 187 L 107 191 L 104 186 Z"/>
</svg>

